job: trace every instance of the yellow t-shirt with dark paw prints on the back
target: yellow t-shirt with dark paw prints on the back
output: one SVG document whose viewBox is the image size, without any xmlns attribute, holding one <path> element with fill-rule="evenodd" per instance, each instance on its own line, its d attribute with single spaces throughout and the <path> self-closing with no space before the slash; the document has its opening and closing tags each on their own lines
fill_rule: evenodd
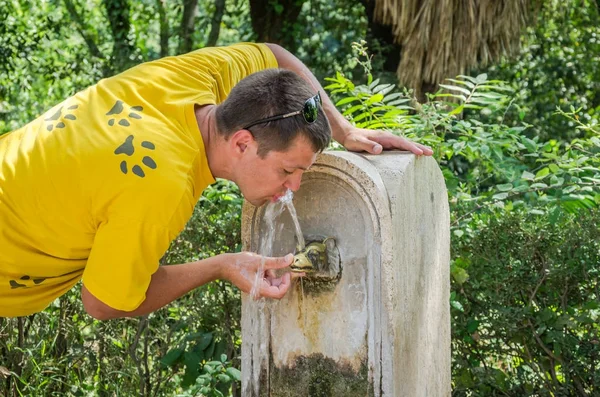
<svg viewBox="0 0 600 397">
<path fill-rule="evenodd" d="M 0 316 L 43 310 L 82 277 L 105 304 L 137 308 L 214 182 L 194 105 L 274 67 L 250 43 L 163 58 L 0 136 Z"/>
</svg>

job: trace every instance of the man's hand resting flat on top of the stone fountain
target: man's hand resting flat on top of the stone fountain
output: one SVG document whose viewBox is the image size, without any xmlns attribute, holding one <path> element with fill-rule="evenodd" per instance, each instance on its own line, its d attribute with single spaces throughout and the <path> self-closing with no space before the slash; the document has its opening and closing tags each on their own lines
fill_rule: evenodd
<svg viewBox="0 0 600 397">
<path fill-rule="evenodd" d="M 389 131 L 367 130 L 352 128 L 345 136 L 344 147 L 353 152 L 368 152 L 379 154 L 383 149 L 408 150 L 417 156 L 431 156 L 433 150 L 429 146 L 412 142 L 406 138 L 392 134 Z"/>
</svg>

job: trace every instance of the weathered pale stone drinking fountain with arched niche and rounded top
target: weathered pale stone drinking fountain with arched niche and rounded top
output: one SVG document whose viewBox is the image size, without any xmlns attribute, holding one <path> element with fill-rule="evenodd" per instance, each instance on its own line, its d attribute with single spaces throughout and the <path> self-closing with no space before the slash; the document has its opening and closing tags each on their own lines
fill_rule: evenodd
<svg viewBox="0 0 600 397">
<path fill-rule="evenodd" d="M 334 237 L 342 276 L 281 301 L 243 298 L 243 395 L 450 395 L 449 214 L 431 158 L 320 155 L 294 197 L 303 234 Z M 245 204 L 244 249 L 264 208 Z M 294 249 L 289 214 L 271 252 Z"/>
</svg>

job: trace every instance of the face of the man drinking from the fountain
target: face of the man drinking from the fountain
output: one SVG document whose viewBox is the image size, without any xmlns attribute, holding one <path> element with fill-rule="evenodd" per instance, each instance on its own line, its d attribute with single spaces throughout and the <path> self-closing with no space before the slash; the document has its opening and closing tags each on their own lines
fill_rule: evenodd
<svg viewBox="0 0 600 397">
<path fill-rule="evenodd" d="M 264 158 L 257 154 L 254 141 L 249 145 L 236 171 L 236 182 L 254 206 L 275 201 L 288 189 L 300 188 L 302 174 L 317 157 L 309 140 L 299 135 L 284 152 L 270 151 Z"/>
</svg>

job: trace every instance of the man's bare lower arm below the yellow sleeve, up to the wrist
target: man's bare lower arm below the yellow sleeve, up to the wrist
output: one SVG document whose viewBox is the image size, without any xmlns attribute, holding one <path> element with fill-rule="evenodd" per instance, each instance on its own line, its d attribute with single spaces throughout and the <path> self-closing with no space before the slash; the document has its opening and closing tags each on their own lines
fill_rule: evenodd
<svg viewBox="0 0 600 397">
<path fill-rule="evenodd" d="M 221 278 L 225 255 L 181 265 L 160 266 L 152 275 L 146 291 L 146 299 L 133 311 L 122 311 L 111 308 L 97 300 L 85 285 L 82 289 L 82 300 L 88 313 L 100 320 L 121 317 L 143 316 L 187 294 L 189 291 L 206 283 Z"/>
</svg>

